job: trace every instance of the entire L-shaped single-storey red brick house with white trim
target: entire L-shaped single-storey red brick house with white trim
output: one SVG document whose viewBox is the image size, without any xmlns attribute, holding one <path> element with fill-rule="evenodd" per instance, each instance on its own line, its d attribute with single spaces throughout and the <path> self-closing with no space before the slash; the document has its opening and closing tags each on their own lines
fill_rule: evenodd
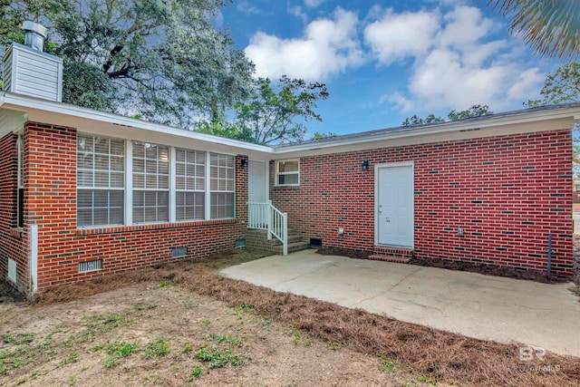
<svg viewBox="0 0 580 387">
<path fill-rule="evenodd" d="M 27 46 L 4 80 L 0 276 L 27 295 L 247 227 L 287 245 L 286 223 L 315 245 L 540 271 L 551 235 L 552 272 L 572 275 L 580 104 L 273 148 L 64 104 L 62 62 Z"/>
</svg>

